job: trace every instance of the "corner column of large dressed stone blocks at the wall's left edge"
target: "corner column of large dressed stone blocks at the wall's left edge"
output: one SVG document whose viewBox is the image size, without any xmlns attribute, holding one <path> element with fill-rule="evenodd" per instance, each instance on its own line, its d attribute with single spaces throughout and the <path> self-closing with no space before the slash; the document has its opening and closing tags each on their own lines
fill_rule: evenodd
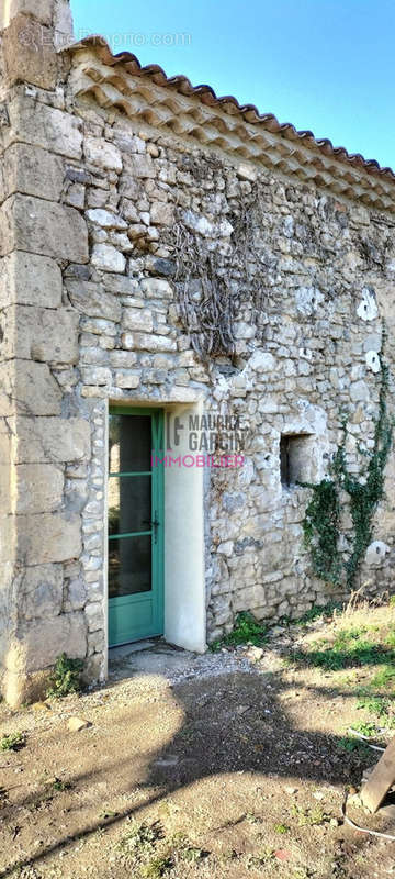
<svg viewBox="0 0 395 879">
<path fill-rule="evenodd" d="M 69 10 L 63 2 L 38 5 L 34 11 L 45 8 L 48 16 Z M 67 121 L 56 109 L 65 67 L 49 44 L 37 52 L 26 43 L 26 34 L 53 38 L 55 31 L 25 7 L 12 7 L 16 16 L 3 33 L 0 114 L 0 653 L 3 690 L 14 704 L 33 694 L 61 650 L 87 655 L 86 616 L 71 612 L 64 583 L 82 548 L 67 474 L 90 460 L 90 425 L 68 418 L 58 380 L 78 361 L 78 315 L 63 302 L 61 268 L 89 259 L 86 224 L 61 204 L 64 158 L 52 143 L 50 124 Z M 37 112 L 40 85 L 52 89 L 48 124 Z M 72 122 L 67 127 L 71 144 Z"/>
</svg>

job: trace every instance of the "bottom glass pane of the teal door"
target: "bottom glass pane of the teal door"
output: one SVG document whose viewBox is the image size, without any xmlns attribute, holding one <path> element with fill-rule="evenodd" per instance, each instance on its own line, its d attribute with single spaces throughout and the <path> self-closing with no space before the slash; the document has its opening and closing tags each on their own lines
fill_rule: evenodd
<svg viewBox="0 0 395 879">
<path fill-rule="evenodd" d="M 109 598 L 149 592 L 150 589 L 151 538 L 109 541 Z"/>
</svg>

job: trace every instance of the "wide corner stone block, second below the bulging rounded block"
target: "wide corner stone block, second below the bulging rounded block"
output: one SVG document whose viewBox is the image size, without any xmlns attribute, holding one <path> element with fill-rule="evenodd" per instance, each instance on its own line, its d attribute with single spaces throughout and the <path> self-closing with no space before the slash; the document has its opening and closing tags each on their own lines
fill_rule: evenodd
<svg viewBox="0 0 395 879">
<path fill-rule="evenodd" d="M 66 309 L 19 305 L 7 309 L 0 318 L 4 359 L 21 357 L 37 361 L 75 364 L 78 361 L 79 316 Z"/>
</svg>

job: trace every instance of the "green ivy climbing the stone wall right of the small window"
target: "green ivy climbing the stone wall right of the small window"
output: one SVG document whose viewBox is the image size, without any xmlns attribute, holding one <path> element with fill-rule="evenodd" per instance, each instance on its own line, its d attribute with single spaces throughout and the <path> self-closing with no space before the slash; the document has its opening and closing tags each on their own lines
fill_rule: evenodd
<svg viewBox="0 0 395 879">
<path fill-rule="evenodd" d="M 318 485 L 304 483 L 313 497 L 307 505 L 303 523 L 304 542 L 309 549 L 313 569 L 317 577 L 332 583 L 343 580 L 349 589 L 356 580 L 368 546 L 373 536 L 373 518 L 377 504 L 384 497 L 384 472 L 387 463 L 394 419 L 387 412 L 388 366 L 384 360 L 386 327 L 382 324 L 382 348 L 380 355 L 381 377 L 377 416 L 374 422 L 373 448 L 360 449 L 365 465 L 356 476 L 347 466 L 347 420 L 341 422 L 341 441 L 332 458 L 329 477 Z M 341 522 L 341 492 L 349 497 L 352 534 L 347 535 L 350 553 L 342 560 L 339 548 Z"/>
</svg>

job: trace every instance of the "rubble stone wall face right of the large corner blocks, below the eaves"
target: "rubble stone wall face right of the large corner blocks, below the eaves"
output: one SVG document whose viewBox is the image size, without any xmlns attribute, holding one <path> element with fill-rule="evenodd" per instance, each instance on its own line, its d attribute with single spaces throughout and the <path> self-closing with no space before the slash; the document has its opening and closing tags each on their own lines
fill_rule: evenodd
<svg viewBox="0 0 395 879">
<path fill-rule="evenodd" d="M 298 615 L 331 593 L 312 577 L 302 546 L 309 493 L 281 486 L 280 436 L 306 434 L 307 481 L 327 471 L 345 408 L 350 466 L 358 467 L 357 443 L 371 445 L 381 318 L 390 337 L 393 327 L 394 221 L 264 169 L 235 167 L 225 155 L 142 130 L 120 114 L 109 119 L 88 101 L 74 111 L 86 177 L 70 183 L 67 198 L 83 203 L 92 254 L 89 269 L 69 266 L 65 277 L 82 315 L 81 394 L 153 402 L 203 396 L 205 411 L 240 418 L 249 432 L 245 466 L 211 475 L 208 638 L 241 610 L 261 619 Z M 246 255 L 235 230 L 257 192 Z M 188 243 L 200 266 L 185 280 L 180 264 Z M 217 272 L 208 293 L 200 271 L 207 255 Z M 246 282 L 246 262 L 262 279 L 259 299 Z M 232 272 L 234 354 L 204 360 L 191 340 L 199 347 L 204 299 L 224 271 Z M 192 313 L 185 297 L 196 303 Z M 373 589 L 391 585 L 394 564 L 391 513 L 381 511 L 380 523 L 384 545 L 363 574 Z M 100 570 L 100 531 L 95 537 Z"/>
</svg>

